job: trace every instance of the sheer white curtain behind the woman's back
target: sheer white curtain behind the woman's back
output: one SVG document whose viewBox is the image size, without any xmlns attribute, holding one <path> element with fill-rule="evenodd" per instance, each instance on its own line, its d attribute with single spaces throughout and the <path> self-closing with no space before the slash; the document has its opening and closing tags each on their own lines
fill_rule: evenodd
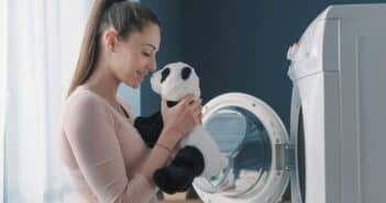
<svg viewBox="0 0 386 203">
<path fill-rule="evenodd" d="M 0 1 L 0 201 L 76 202 L 57 134 L 92 0 Z"/>
</svg>

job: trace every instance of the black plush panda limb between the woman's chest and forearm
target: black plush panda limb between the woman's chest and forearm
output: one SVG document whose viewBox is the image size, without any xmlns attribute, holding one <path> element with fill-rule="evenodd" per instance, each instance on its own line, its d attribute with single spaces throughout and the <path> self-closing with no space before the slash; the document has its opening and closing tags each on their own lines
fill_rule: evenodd
<svg viewBox="0 0 386 203">
<path fill-rule="evenodd" d="M 146 146 L 153 148 L 164 127 L 162 114 L 159 111 L 157 111 L 150 116 L 135 117 L 134 126 L 141 134 L 141 137 L 145 142 Z"/>
</svg>

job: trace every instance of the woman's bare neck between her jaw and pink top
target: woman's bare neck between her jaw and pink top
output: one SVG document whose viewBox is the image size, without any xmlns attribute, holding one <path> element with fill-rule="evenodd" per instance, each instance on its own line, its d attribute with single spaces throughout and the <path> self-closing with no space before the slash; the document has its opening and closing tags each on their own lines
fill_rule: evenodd
<svg viewBox="0 0 386 203">
<path fill-rule="evenodd" d="M 119 79 L 112 75 L 107 65 L 97 64 L 95 72 L 84 86 L 114 105 L 119 83 Z"/>
</svg>

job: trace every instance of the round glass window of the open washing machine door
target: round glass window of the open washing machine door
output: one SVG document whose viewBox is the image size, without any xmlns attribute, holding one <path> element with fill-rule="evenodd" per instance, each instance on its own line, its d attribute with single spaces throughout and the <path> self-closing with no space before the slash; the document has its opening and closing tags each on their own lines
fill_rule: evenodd
<svg viewBox="0 0 386 203">
<path fill-rule="evenodd" d="M 254 114 L 240 106 L 225 106 L 212 113 L 203 126 L 228 157 L 230 166 L 217 179 L 196 181 L 197 187 L 210 193 L 238 196 L 266 184 L 272 167 L 272 144 Z"/>
</svg>

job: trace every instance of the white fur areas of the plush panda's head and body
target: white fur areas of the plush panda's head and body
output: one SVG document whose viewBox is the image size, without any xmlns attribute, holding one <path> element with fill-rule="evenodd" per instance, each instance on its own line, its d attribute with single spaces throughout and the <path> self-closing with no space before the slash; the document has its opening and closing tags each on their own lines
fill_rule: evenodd
<svg viewBox="0 0 386 203">
<path fill-rule="evenodd" d="M 191 74 L 186 80 L 181 78 L 181 71 L 185 67 L 191 68 Z M 161 82 L 161 72 L 165 68 L 169 68 L 170 72 Z M 195 69 L 185 63 L 168 64 L 154 72 L 151 84 L 153 90 L 167 101 L 179 101 L 188 93 L 192 93 L 197 100 L 200 99 L 199 79 Z M 184 146 L 194 146 L 203 155 L 205 169 L 200 176 L 202 178 L 210 180 L 212 176 L 219 174 L 228 166 L 228 159 L 220 153 L 210 134 L 201 125 L 195 127 L 190 135 L 181 140 L 180 147 Z"/>
</svg>

